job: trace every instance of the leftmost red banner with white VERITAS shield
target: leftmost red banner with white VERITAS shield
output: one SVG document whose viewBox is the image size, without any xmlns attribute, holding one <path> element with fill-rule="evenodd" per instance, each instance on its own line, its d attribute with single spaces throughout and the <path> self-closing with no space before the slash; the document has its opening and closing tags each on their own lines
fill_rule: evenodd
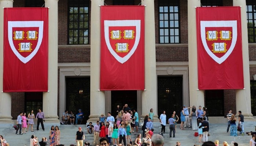
<svg viewBox="0 0 256 146">
<path fill-rule="evenodd" d="M 4 8 L 3 20 L 3 91 L 48 91 L 48 8 Z"/>
</svg>

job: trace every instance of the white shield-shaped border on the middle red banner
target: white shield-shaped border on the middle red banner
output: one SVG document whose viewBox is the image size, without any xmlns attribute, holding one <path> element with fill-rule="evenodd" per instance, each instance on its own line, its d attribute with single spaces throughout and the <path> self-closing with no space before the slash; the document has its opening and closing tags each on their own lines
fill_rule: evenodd
<svg viewBox="0 0 256 146">
<path fill-rule="evenodd" d="M 131 51 L 124 57 L 120 57 L 117 53 L 112 49 L 109 41 L 109 26 L 135 26 L 136 27 L 136 37 L 134 46 L 132 47 Z M 104 36 L 105 41 L 107 44 L 107 48 L 109 49 L 110 53 L 117 59 L 118 62 L 123 64 L 126 62 L 132 54 L 134 54 L 140 40 L 140 20 L 105 20 L 104 21 Z"/>
</svg>

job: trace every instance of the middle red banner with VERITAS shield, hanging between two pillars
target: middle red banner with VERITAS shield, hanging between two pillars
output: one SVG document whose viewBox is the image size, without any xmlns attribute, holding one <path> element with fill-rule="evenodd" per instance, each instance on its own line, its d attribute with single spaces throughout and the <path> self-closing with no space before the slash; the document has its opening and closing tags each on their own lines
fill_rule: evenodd
<svg viewBox="0 0 256 146">
<path fill-rule="evenodd" d="M 100 90 L 144 89 L 144 7 L 100 7 Z"/>
</svg>

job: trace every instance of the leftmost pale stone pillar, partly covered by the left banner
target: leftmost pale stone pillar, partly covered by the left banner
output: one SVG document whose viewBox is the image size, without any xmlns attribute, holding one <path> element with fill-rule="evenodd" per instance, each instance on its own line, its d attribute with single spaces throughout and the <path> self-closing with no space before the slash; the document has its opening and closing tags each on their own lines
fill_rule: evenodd
<svg viewBox="0 0 256 146">
<path fill-rule="evenodd" d="M 11 8 L 13 0 L 0 0 L 0 58 L 3 58 L 4 48 L 4 9 Z M 14 124 L 11 116 L 11 94 L 3 93 L 3 59 L 0 61 L 0 123 Z M 17 115 L 18 116 L 18 115 Z"/>
</svg>

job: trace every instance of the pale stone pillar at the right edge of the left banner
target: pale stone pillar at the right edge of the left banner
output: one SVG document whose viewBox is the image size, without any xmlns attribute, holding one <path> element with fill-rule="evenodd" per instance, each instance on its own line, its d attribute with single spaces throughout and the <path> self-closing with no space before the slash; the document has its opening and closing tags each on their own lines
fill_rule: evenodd
<svg viewBox="0 0 256 146">
<path fill-rule="evenodd" d="M 48 16 L 48 92 L 43 92 L 43 112 L 48 123 L 58 120 L 58 0 L 45 0 Z"/>
</svg>

